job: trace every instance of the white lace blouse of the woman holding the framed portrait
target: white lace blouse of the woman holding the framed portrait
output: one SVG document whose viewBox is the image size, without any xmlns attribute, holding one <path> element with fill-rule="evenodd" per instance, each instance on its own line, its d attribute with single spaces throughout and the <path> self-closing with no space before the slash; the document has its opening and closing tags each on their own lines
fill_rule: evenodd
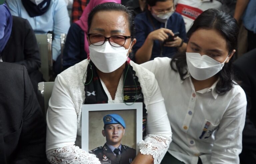
<svg viewBox="0 0 256 164">
<path fill-rule="evenodd" d="M 85 99 L 83 77 L 86 79 L 88 60 L 84 60 L 59 74 L 55 80 L 47 111 L 46 153 L 50 163 L 100 163 L 95 155 L 80 149 L 81 108 Z M 154 163 L 161 162 L 171 140 L 172 132 L 164 105 L 164 99 L 154 75 L 131 62 L 141 84 L 147 109 L 147 135 L 139 143 L 142 154 L 150 154 Z M 108 103 L 121 103 L 123 77 L 120 79 L 114 99 L 105 84 L 103 88 Z"/>
</svg>

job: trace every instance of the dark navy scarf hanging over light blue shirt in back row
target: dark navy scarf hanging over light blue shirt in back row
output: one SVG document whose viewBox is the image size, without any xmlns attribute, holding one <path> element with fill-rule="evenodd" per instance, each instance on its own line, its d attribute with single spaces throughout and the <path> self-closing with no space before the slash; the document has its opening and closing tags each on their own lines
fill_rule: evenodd
<svg viewBox="0 0 256 164">
<path fill-rule="evenodd" d="M 24 8 L 28 12 L 30 17 L 36 17 L 43 15 L 49 8 L 51 0 L 44 0 L 40 4 L 36 5 L 30 0 L 21 0 Z"/>
</svg>

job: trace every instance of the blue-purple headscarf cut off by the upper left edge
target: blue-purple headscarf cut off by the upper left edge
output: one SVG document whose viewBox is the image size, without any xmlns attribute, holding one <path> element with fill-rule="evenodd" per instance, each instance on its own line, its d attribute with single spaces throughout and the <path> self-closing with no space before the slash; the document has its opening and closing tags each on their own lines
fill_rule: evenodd
<svg viewBox="0 0 256 164">
<path fill-rule="evenodd" d="M 0 55 L 12 32 L 12 15 L 5 4 L 0 5 Z"/>
</svg>

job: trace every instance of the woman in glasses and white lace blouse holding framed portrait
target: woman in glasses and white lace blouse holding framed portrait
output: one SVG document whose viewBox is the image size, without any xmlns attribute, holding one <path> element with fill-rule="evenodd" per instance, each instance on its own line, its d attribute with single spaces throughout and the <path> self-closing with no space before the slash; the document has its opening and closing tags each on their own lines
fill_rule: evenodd
<svg viewBox="0 0 256 164">
<path fill-rule="evenodd" d="M 50 163 L 100 163 L 80 149 L 82 104 L 143 102 L 143 134 L 133 164 L 158 164 L 171 142 L 164 99 L 154 75 L 128 58 L 133 12 L 117 3 L 96 6 L 88 16 L 90 55 L 55 80 L 47 111 Z"/>
</svg>

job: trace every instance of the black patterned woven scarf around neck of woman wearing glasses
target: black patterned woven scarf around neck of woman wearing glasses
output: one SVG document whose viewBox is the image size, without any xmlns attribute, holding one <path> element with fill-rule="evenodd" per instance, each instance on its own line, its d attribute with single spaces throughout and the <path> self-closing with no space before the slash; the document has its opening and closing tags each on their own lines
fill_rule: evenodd
<svg viewBox="0 0 256 164">
<path fill-rule="evenodd" d="M 87 66 L 87 77 L 84 83 L 85 100 L 84 104 L 98 104 L 98 103 L 108 103 L 108 96 L 105 93 L 103 86 L 100 82 L 100 78 L 97 75 L 96 67 L 90 61 Z M 141 91 L 140 82 L 136 76 L 136 72 L 130 64 L 125 65 L 124 69 L 124 86 L 123 86 L 123 100 L 124 102 L 142 102 L 143 103 L 143 118 L 142 118 L 142 128 L 143 128 L 143 138 L 146 136 L 146 122 L 147 122 L 147 110 L 144 104 L 143 93 Z M 137 88 L 137 95 L 136 95 Z"/>
</svg>

